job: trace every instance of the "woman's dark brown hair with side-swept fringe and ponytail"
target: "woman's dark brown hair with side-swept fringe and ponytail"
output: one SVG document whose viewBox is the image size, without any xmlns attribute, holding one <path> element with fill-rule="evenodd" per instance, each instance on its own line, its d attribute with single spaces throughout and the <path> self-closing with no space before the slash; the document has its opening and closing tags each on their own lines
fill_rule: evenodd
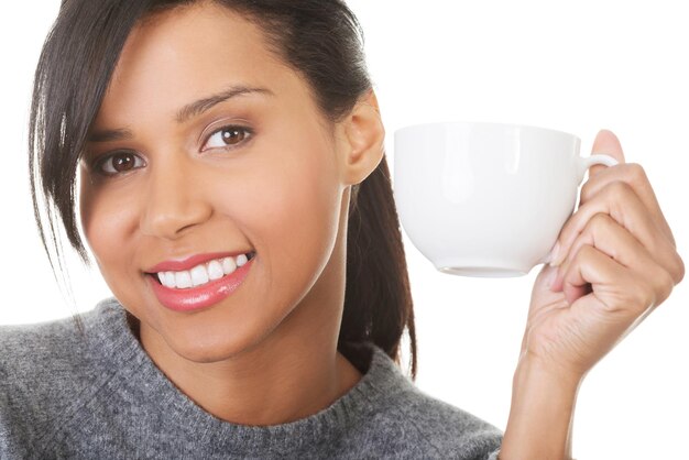
<svg viewBox="0 0 689 460">
<path fill-rule="evenodd" d="M 372 87 L 361 26 L 341 0 L 215 0 L 255 23 L 271 51 L 305 77 L 324 117 L 342 120 Z M 76 168 L 120 53 L 138 22 L 193 0 L 64 0 L 35 74 L 30 125 L 34 215 L 53 270 L 64 273 L 59 223 L 88 263 L 76 221 Z M 338 349 L 373 342 L 400 360 L 416 338 L 407 267 L 385 158 L 352 187 Z"/>
</svg>

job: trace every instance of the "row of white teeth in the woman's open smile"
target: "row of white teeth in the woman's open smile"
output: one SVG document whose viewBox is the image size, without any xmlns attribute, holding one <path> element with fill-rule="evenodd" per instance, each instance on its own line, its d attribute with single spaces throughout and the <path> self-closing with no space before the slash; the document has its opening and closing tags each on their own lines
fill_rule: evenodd
<svg viewBox="0 0 689 460">
<path fill-rule="evenodd" d="M 234 273 L 239 267 L 254 259 L 255 251 L 237 256 L 214 259 L 194 266 L 190 270 L 146 273 L 158 284 L 171 289 L 189 289 L 204 286 Z"/>
</svg>

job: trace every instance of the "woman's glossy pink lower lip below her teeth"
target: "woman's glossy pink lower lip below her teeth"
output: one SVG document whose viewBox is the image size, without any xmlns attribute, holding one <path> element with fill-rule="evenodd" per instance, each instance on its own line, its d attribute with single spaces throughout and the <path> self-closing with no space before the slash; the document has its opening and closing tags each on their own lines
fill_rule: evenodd
<svg viewBox="0 0 689 460">
<path fill-rule="evenodd" d="M 164 307 L 175 311 L 195 311 L 211 307 L 237 291 L 249 274 L 254 259 L 220 280 L 211 281 L 203 286 L 190 287 L 188 289 L 165 287 L 153 276 L 147 276 L 153 287 L 153 293 L 155 293 L 155 297 L 157 297 L 158 302 L 163 304 Z"/>
</svg>

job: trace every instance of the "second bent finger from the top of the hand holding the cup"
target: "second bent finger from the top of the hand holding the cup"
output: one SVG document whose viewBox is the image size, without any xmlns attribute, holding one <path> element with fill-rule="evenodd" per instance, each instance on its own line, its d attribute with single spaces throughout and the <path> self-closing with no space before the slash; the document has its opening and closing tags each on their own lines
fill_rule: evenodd
<svg viewBox="0 0 689 460">
<path fill-rule="evenodd" d="M 683 264 L 671 241 L 665 238 L 654 219 L 646 211 L 641 199 L 623 182 L 609 184 L 600 194 L 581 206 L 565 223 L 558 238 L 557 253 L 551 265 L 560 265 L 571 253 L 571 247 L 593 216 L 610 215 L 619 224 L 636 238 L 646 250 L 654 254 L 679 283 L 683 275 Z"/>
</svg>

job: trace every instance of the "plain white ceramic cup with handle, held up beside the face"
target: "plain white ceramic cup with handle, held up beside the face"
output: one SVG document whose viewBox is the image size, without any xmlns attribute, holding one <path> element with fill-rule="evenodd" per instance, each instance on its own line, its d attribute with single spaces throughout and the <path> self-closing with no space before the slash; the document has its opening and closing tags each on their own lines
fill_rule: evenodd
<svg viewBox="0 0 689 460">
<path fill-rule="evenodd" d="M 549 129 L 446 122 L 395 132 L 394 195 L 414 245 L 444 273 L 507 277 L 548 262 L 579 185 L 609 155 Z"/>
</svg>

